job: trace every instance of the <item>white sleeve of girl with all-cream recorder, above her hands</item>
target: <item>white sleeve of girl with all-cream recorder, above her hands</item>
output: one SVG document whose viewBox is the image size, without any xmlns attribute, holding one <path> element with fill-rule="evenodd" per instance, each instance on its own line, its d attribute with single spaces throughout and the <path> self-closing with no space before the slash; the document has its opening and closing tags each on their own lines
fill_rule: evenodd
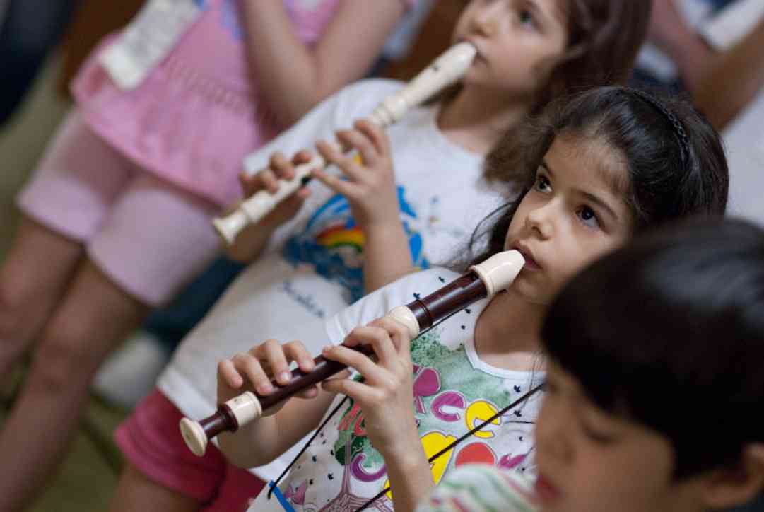
<svg viewBox="0 0 764 512">
<path fill-rule="evenodd" d="M 313 150 L 319 140 L 334 140 L 335 131 L 350 128 L 400 87 L 400 82 L 374 79 L 361 80 L 335 92 L 273 141 L 244 157 L 245 172 L 254 174 L 267 167 L 270 155 L 276 151 L 291 158 L 297 151 Z"/>
</svg>

